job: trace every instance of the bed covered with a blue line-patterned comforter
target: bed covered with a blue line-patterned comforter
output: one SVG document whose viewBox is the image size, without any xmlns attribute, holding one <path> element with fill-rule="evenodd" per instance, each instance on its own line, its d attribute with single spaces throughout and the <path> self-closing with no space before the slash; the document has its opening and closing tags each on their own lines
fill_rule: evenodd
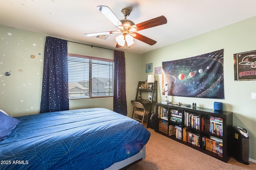
<svg viewBox="0 0 256 170">
<path fill-rule="evenodd" d="M 0 141 L 1 170 L 120 169 L 145 158 L 150 132 L 139 122 L 104 108 L 15 117 Z"/>
</svg>

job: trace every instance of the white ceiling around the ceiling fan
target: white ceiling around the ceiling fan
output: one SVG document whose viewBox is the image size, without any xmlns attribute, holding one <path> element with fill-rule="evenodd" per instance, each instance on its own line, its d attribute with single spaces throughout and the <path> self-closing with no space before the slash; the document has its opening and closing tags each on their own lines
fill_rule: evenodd
<svg viewBox="0 0 256 170">
<path fill-rule="evenodd" d="M 0 0 L 0 25 L 114 49 L 119 34 L 105 40 L 84 36 L 116 30 L 96 8 L 100 5 L 108 6 L 120 20 L 121 10 L 132 8 L 127 19 L 135 24 L 167 18 L 165 25 L 138 31 L 157 41 L 150 46 L 135 39 L 126 51 L 138 54 L 256 16 L 256 0 Z"/>
</svg>

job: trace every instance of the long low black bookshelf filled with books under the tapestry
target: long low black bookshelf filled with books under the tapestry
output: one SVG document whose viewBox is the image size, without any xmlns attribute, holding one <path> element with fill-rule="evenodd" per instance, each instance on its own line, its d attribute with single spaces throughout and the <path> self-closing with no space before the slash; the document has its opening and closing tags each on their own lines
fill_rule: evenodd
<svg viewBox="0 0 256 170">
<path fill-rule="evenodd" d="M 230 159 L 232 112 L 156 103 L 156 113 L 157 133 L 223 162 Z"/>
</svg>

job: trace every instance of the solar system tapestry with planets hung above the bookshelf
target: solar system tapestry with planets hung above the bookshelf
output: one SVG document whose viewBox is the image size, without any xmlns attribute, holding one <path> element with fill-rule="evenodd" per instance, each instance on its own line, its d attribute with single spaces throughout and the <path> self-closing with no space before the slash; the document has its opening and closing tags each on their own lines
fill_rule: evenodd
<svg viewBox="0 0 256 170">
<path fill-rule="evenodd" d="M 186 59 L 162 62 L 162 94 L 224 99 L 224 49 Z"/>
</svg>

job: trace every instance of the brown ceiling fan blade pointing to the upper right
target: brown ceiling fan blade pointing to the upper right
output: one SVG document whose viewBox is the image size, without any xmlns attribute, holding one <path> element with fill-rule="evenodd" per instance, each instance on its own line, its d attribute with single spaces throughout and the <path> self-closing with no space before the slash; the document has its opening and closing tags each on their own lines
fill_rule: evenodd
<svg viewBox="0 0 256 170">
<path fill-rule="evenodd" d="M 142 23 L 138 23 L 138 24 L 136 24 L 136 26 L 137 26 L 137 31 L 140 31 L 142 29 L 156 27 L 158 25 L 163 25 L 166 23 L 167 23 L 167 19 L 165 18 L 165 16 L 160 16 L 160 17 L 156 17 L 151 20 L 148 20 L 148 21 L 144 21 Z"/>
</svg>

